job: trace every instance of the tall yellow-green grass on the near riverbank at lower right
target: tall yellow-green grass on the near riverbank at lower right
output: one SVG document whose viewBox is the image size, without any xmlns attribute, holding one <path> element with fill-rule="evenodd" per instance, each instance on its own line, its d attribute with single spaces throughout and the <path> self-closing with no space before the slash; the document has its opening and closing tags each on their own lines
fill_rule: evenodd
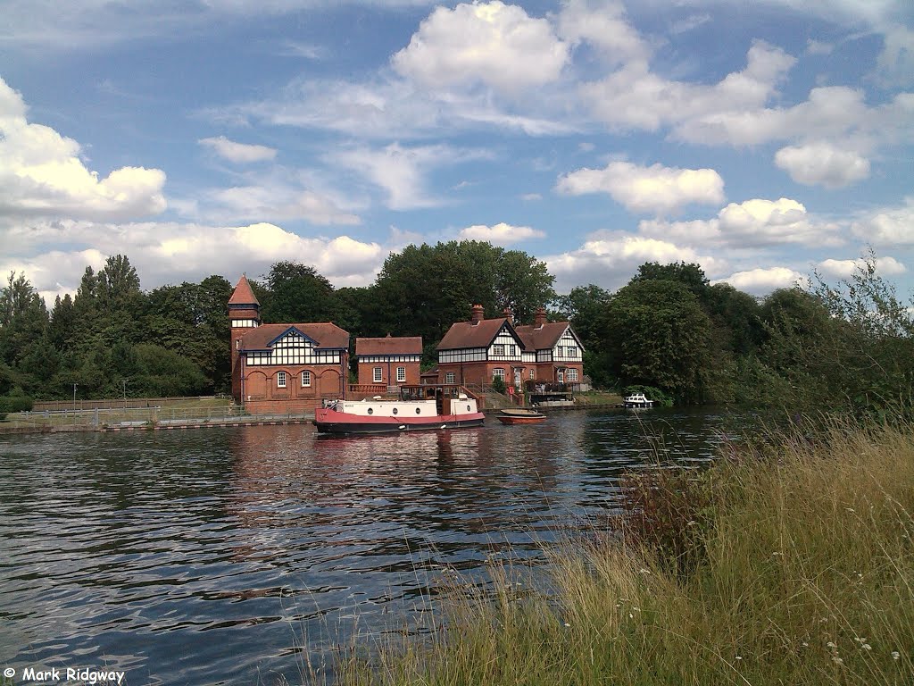
<svg viewBox="0 0 914 686">
<path fill-rule="evenodd" d="M 629 482 L 615 531 L 551 552 L 549 588 L 455 585 L 446 628 L 344 684 L 910 684 L 914 431 L 832 423 Z"/>
</svg>

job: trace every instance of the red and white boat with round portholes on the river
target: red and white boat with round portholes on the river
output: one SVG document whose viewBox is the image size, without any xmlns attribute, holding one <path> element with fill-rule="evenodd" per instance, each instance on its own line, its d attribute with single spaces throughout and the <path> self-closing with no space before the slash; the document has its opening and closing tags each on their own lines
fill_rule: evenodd
<svg viewBox="0 0 914 686">
<path fill-rule="evenodd" d="M 321 434 L 388 434 L 482 426 L 485 415 L 462 386 L 402 386 L 398 399 L 334 401 L 314 412 Z"/>
</svg>

